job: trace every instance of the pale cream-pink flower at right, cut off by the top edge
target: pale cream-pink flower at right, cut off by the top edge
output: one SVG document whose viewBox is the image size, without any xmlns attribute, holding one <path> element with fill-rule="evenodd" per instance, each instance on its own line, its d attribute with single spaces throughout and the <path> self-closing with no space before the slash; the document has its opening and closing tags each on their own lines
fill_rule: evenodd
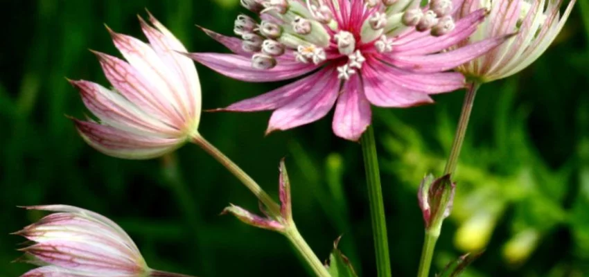
<svg viewBox="0 0 589 277">
<path fill-rule="evenodd" d="M 491 14 L 468 42 L 518 33 L 501 46 L 459 67 L 479 82 L 491 82 L 518 73 L 536 61 L 563 28 L 576 0 L 570 0 L 561 15 L 564 0 L 466 0 L 460 17 L 488 8 Z"/>
</svg>

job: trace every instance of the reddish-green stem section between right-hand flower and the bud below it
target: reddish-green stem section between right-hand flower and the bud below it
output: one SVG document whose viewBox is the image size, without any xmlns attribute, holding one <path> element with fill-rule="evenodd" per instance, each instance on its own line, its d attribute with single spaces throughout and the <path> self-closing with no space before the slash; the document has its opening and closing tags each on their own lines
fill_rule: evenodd
<svg viewBox="0 0 589 277">
<path fill-rule="evenodd" d="M 458 163 L 458 157 L 460 150 L 462 149 L 462 143 L 464 142 L 464 135 L 468 128 L 468 120 L 471 118 L 471 111 L 473 111 L 473 105 L 475 103 L 475 96 L 477 96 L 477 90 L 480 84 L 473 82 L 469 84 L 466 90 L 466 96 L 464 96 L 464 103 L 462 104 L 462 111 L 456 129 L 456 135 L 454 136 L 454 143 L 452 143 L 452 150 L 450 150 L 450 157 L 446 163 L 446 168 L 443 170 L 443 175 L 452 174 L 456 170 Z"/>
</svg>

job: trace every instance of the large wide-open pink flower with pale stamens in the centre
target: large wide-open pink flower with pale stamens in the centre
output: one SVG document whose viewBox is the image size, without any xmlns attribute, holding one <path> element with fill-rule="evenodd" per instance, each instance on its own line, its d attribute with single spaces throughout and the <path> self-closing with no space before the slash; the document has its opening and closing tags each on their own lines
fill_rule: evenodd
<svg viewBox="0 0 589 277">
<path fill-rule="evenodd" d="M 247 82 L 306 75 L 226 111 L 275 110 L 267 132 L 313 122 L 335 107 L 333 132 L 358 140 L 371 123 L 370 104 L 411 107 L 431 94 L 464 87 L 459 73 L 444 72 L 491 50 L 497 37 L 441 53 L 466 39 L 484 9 L 459 21 L 463 0 L 242 0 L 261 22 L 240 15 L 241 39 L 205 30 L 234 54 L 192 53 L 211 69 Z M 337 104 L 336 104 L 337 102 Z"/>
</svg>

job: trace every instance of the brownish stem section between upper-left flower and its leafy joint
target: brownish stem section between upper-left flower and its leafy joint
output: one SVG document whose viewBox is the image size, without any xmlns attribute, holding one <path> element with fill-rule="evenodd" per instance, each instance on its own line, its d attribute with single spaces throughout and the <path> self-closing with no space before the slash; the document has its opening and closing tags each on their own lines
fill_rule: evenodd
<svg viewBox="0 0 589 277">
<path fill-rule="evenodd" d="M 193 136 L 193 143 L 199 145 L 204 151 L 211 154 L 219 163 L 221 163 L 229 172 L 233 173 L 237 179 L 239 179 L 249 190 L 260 199 L 260 201 L 266 206 L 271 215 L 280 215 L 280 206 L 274 202 L 270 195 L 267 195 L 252 177 L 249 177 L 239 166 L 237 166 L 231 159 L 227 158 L 225 154 L 220 152 L 214 145 L 206 141 L 202 136 Z"/>
</svg>

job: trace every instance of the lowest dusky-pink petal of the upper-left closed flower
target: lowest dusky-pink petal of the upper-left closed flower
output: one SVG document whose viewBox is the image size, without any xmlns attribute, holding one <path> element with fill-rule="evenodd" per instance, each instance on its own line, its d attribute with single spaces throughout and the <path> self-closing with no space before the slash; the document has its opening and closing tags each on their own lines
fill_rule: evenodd
<svg viewBox="0 0 589 277">
<path fill-rule="evenodd" d="M 81 120 L 73 120 L 89 145 L 112 157 L 122 159 L 152 159 L 176 150 L 181 139 L 139 136 L 115 127 Z"/>
</svg>

